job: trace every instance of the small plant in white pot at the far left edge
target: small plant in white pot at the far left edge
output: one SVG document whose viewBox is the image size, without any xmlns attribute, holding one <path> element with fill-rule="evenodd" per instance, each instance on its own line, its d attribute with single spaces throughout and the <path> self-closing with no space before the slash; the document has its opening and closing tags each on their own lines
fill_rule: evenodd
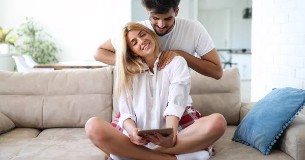
<svg viewBox="0 0 305 160">
<path fill-rule="evenodd" d="M 15 37 L 8 37 L 8 34 L 12 32 L 13 29 L 10 29 L 8 31 L 3 30 L 2 27 L 0 27 L 0 53 L 2 54 L 9 54 L 10 53 L 10 46 L 15 46 L 15 42 L 17 39 Z"/>
</svg>

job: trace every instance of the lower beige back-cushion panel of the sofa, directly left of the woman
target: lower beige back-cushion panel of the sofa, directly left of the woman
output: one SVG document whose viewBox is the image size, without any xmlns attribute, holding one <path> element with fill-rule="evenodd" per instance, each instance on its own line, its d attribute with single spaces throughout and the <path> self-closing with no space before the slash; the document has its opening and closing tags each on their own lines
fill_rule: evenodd
<svg viewBox="0 0 305 160">
<path fill-rule="evenodd" d="M 84 127 L 91 117 L 100 117 L 110 123 L 111 101 L 111 94 L 45 97 L 43 128 Z"/>
</svg>

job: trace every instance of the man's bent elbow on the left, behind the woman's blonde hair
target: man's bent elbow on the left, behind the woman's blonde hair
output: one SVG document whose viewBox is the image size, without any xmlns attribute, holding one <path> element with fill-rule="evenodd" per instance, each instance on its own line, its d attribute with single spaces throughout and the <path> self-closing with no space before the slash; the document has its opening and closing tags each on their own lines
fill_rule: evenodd
<svg viewBox="0 0 305 160">
<path fill-rule="evenodd" d="M 104 42 L 94 53 L 94 59 L 105 64 L 115 65 L 115 49 L 110 39 Z"/>
</svg>

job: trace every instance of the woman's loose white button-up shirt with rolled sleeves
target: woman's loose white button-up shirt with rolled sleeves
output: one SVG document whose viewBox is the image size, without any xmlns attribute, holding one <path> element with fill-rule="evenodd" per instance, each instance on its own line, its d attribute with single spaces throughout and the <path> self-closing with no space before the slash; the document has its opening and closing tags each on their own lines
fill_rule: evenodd
<svg viewBox="0 0 305 160">
<path fill-rule="evenodd" d="M 147 71 L 135 76 L 132 95 L 128 97 L 126 90 L 121 93 L 118 102 L 118 125 L 122 129 L 123 122 L 129 118 L 139 129 L 165 128 L 166 115 L 177 116 L 180 120 L 184 113 L 191 89 L 187 61 L 183 57 L 175 56 L 159 71 L 159 57 L 153 68 L 155 74 L 150 72 L 145 64 Z M 126 131 L 124 133 L 128 136 Z"/>
</svg>

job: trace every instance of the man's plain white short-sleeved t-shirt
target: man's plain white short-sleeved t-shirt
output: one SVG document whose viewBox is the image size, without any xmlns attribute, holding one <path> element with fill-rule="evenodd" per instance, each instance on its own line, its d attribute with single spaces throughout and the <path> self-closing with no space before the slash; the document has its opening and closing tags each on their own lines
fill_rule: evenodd
<svg viewBox="0 0 305 160">
<path fill-rule="evenodd" d="M 138 22 L 154 31 L 149 20 Z M 195 20 L 175 18 L 174 28 L 167 34 L 159 36 L 161 51 L 181 50 L 193 56 L 198 54 L 200 57 L 215 48 L 212 38 L 203 27 Z M 112 46 L 116 49 L 119 35 L 111 38 Z M 191 72 L 191 68 L 189 68 Z M 192 98 L 189 96 L 187 106 L 192 106 Z"/>
</svg>

